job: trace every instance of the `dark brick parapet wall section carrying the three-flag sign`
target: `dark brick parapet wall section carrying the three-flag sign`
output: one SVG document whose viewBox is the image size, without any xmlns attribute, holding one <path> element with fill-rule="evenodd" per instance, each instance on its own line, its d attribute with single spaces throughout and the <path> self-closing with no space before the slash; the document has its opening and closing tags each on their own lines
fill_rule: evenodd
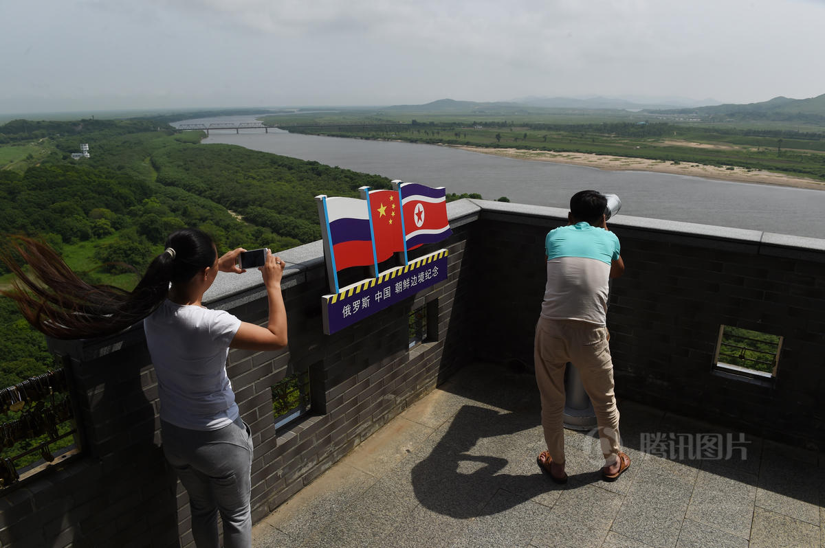
<svg viewBox="0 0 825 548">
<path fill-rule="evenodd" d="M 255 444 L 254 521 L 472 359 L 456 352 L 460 345 L 446 344 L 450 330 L 469 321 L 459 279 L 470 229 L 455 227 L 441 242 L 450 251 L 445 283 L 333 335 L 322 329 L 321 295 L 328 288 L 319 246 L 281 254 L 292 264 L 283 283 L 290 345 L 280 352 L 233 349 L 227 367 Z M 246 283 L 240 290 L 219 288 L 210 306 L 264 324 L 260 279 Z M 434 301 L 438 338 L 411 350 L 409 313 Z M 186 490 L 160 447 L 158 386 L 142 329 L 50 344 L 68 357 L 82 454 L 2 494 L 0 546 L 194 546 Z M 276 431 L 270 387 L 303 371 L 309 371 L 313 408 Z"/>
</svg>

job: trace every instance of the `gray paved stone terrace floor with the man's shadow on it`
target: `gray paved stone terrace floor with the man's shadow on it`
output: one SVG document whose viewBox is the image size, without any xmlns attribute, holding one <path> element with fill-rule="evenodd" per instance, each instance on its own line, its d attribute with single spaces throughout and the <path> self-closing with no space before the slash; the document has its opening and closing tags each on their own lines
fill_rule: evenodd
<svg viewBox="0 0 825 548">
<path fill-rule="evenodd" d="M 259 522 L 254 546 L 825 548 L 825 455 L 619 408 L 629 470 L 601 481 L 596 438 L 568 430 L 554 485 L 533 377 L 464 368 Z M 714 439 L 723 458 L 691 454 Z"/>
</svg>

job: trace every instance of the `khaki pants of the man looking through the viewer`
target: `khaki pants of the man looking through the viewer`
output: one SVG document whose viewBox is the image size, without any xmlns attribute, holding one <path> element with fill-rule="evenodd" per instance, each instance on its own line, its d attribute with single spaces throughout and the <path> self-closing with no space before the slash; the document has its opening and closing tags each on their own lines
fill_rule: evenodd
<svg viewBox="0 0 825 548">
<path fill-rule="evenodd" d="M 607 328 L 585 321 L 548 320 L 535 326 L 535 381 L 541 394 L 541 426 L 553 461 L 564 463 L 564 369 L 578 368 L 596 411 L 601 452 L 608 463 L 619 453 L 619 410 L 613 391 L 613 362 Z"/>
</svg>

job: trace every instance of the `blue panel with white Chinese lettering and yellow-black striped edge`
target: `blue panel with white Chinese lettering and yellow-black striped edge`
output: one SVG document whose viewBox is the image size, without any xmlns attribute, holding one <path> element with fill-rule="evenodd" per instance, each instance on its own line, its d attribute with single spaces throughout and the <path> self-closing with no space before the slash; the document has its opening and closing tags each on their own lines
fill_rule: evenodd
<svg viewBox="0 0 825 548">
<path fill-rule="evenodd" d="M 442 249 L 409 265 L 387 270 L 378 278 L 324 295 L 321 297 L 323 332 L 331 335 L 446 279 L 447 250 Z"/>
</svg>

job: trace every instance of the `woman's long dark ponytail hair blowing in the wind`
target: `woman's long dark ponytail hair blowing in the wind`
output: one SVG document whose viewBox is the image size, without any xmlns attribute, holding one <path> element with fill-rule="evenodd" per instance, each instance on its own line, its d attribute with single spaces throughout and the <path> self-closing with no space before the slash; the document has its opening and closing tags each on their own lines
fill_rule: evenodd
<svg viewBox="0 0 825 548">
<path fill-rule="evenodd" d="M 166 297 L 169 283 L 185 283 L 214 265 L 212 239 L 196 228 L 167 238 L 167 251 L 152 260 L 131 292 L 84 282 L 50 246 L 29 237 L 10 237 L 2 260 L 16 274 L 12 298 L 31 326 L 55 339 L 91 339 L 111 335 L 143 320 Z M 10 247 L 10 249 L 8 249 Z M 170 251 L 172 250 L 172 251 Z M 17 255 L 19 260 L 14 258 Z M 31 269 L 27 273 L 21 264 Z"/>
</svg>

